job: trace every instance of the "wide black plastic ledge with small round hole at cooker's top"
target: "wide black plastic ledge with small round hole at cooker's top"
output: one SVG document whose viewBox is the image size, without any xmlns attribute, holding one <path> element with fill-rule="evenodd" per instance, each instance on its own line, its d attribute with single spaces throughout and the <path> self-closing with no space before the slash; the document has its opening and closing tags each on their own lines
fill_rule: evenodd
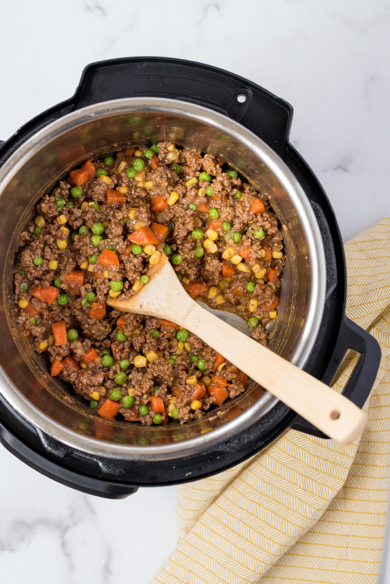
<svg viewBox="0 0 390 584">
<path fill-rule="evenodd" d="M 181 99 L 224 113 L 253 131 L 284 159 L 293 108 L 247 79 L 203 63 L 128 57 L 88 65 L 74 109 L 111 99 Z"/>
</svg>

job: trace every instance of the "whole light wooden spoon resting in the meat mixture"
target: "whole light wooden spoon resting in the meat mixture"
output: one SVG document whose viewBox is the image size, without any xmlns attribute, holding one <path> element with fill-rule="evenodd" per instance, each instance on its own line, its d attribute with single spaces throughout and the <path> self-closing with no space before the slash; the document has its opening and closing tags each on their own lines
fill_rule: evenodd
<svg viewBox="0 0 390 584">
<path fill-rule="evenodd" d="M 363 432 L 366 415 L 349 399 L 192 300 L 164 253 L 150 267 L 148 276 L 149 282 L 135 296 L 124 301 L 110 298 L 107 304 L 117 310 L 165 318 L 184 326 L 338 442 L 350 444 Z"/>
</svg>

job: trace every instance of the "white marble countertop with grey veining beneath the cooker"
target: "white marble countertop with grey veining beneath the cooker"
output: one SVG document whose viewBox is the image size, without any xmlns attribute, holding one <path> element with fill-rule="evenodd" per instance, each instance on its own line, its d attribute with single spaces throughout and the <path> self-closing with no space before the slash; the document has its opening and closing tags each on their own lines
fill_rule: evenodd
<svg viewBox="0 0 390 584">
<path fill-rule="evenodd" d="M 389 2 L 14 0 L 2 5 L 1 22 L 2 139 L 71 96 L 89 62 L 203 61 L 294 106 L 291 140 L 328 193 L 344 239 L 390 214 Z M 50 481 L 2 447 L 0 468 L 5 584 L 147 584 L 175 545 L 175 487 L 99 499 Z M 388 536 L 381 584 L 390 581 L 389 551 Z"/>
</svg>

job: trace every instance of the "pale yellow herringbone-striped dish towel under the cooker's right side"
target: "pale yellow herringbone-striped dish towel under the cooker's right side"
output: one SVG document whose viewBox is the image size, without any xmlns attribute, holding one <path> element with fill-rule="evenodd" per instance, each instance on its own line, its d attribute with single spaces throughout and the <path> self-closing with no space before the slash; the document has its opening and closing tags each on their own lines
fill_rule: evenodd
<svg viewBox="0 0 390 584">
<path fill-rule="evenodd" d="M 179 541 L 152 584 L 377 583 L 389 488 L 390 219 L 345 252 L 347 315 L 382 349 L 363 434 L 342 446 L 288 430 L 244 463 L 181 485 Z"/>
</svg>

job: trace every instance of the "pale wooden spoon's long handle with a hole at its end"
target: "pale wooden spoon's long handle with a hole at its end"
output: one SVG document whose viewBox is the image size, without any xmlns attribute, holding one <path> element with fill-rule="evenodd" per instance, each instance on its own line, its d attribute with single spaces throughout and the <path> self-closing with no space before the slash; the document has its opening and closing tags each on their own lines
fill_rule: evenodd
<svg viewBox="0 0 390 584">
<path fill-rule="evenodd" d="M 366 415 L 353 402 L 188 300 L 186 310 L 177 311 L 180 324 L 264 389 L 337 442 L 350 444 L 363 432 Z"/>
</svg>

